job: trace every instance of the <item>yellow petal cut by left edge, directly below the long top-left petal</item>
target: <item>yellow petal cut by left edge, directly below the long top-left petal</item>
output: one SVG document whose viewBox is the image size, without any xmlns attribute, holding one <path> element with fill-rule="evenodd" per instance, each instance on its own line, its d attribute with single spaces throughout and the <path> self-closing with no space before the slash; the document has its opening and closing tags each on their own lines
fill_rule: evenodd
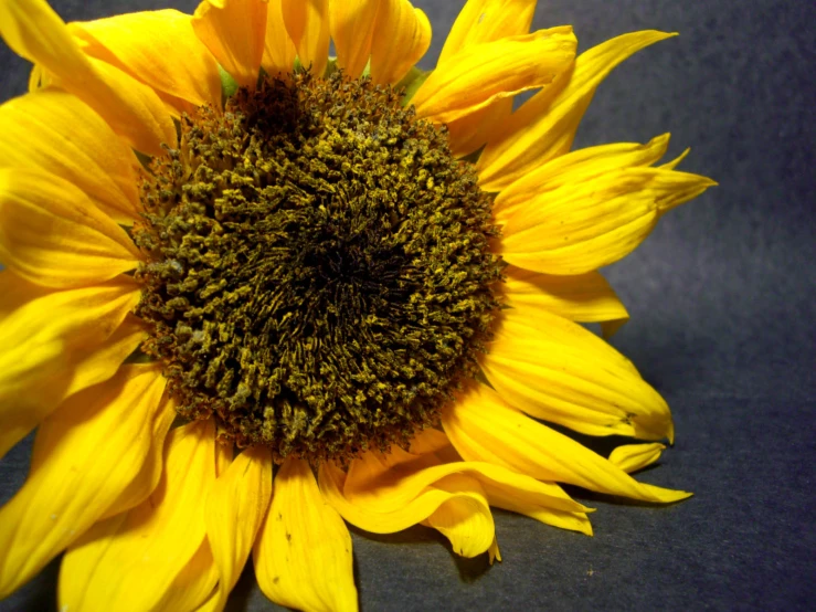
<svg viewBox="0 0 816 612">
<path fill-rule="evenodd" d="M 47 91 L 0 107 L 0 167 L 40 168 L 82 189 L 119 223 L 138 218 L 133 150 L 76 96 Z"/>
</svg>

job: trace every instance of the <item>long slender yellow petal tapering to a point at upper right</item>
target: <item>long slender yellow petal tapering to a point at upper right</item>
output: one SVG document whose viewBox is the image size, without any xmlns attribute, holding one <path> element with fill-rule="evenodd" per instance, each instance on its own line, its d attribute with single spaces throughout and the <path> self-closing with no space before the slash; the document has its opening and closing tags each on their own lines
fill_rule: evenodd
<svg viewBox="0 0 816 612">
<path fill-rule="evenodd" d="M 527 101 L 501 133 L 494 135 L 477 163 L 483 189 L 501 191 L 545 161 L 569 151 L 581 117 L 606 75 L 637 51 L 672 35 L 634 32 L 582 53 L 573 71 Z"/>
</svg>

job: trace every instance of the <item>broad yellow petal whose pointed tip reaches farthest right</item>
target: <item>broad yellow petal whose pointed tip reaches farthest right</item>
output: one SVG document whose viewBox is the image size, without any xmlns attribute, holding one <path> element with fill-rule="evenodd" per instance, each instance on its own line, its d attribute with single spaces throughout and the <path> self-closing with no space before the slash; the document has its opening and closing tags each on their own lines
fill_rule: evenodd
<svg viewBox="0 0 816 612">
<path fill-rule="evenodd" d="M 583 274 L 628 255 L 661 213 L 714 184 L 661 168 L 625 168 L 566 184 L 516 209 L 502 228 L 501 255 L 544 274 Z"/>
</svg>

